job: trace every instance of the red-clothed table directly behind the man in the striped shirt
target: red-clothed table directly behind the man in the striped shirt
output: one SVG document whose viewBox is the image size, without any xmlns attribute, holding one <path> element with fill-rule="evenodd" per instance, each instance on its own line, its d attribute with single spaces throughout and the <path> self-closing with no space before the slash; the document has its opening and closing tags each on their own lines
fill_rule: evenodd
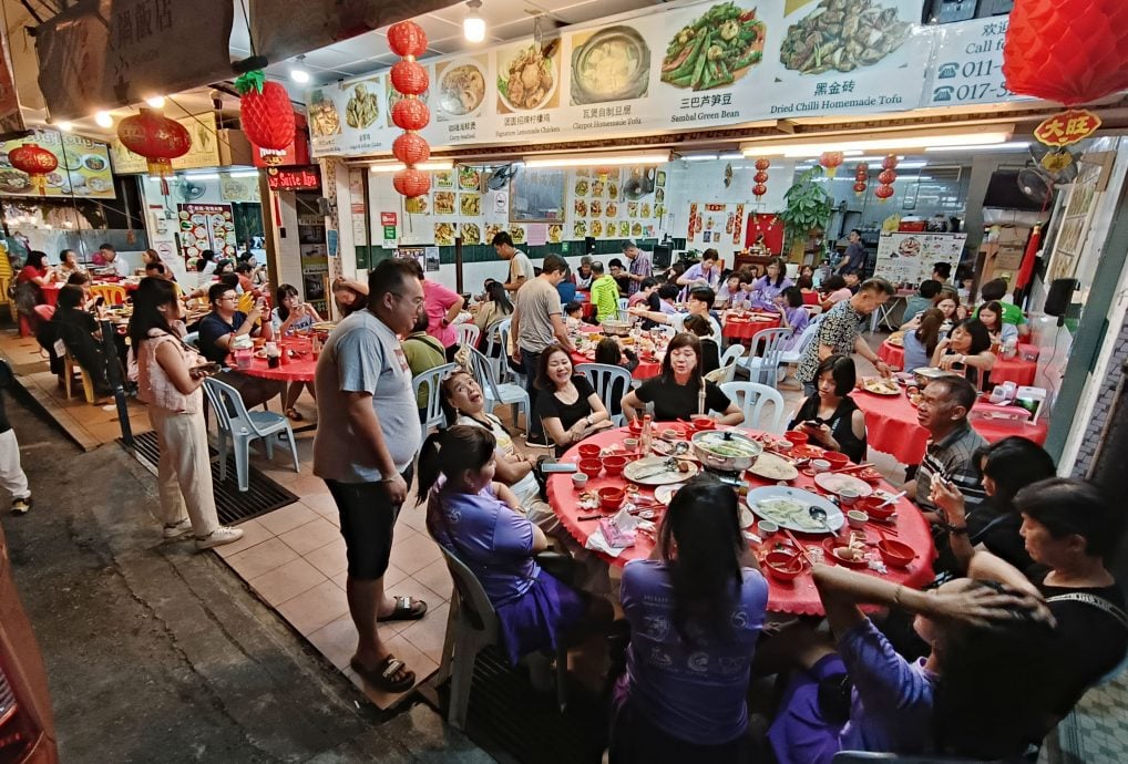
<svg viewBox="0 0 1128 764">
<path fill-rule="evenodd" d="M 908 397 L 876 396 L 864 390 L 852 393 L 854 402 L 865 412 L 865 437 L 871 448 L 891 454 L 902 464 L 919 464 L 928 445 L 928 430 L 917 424 L 916 407 Z M 995 409 L 985 402 L 976 403 L 976 409 Z M 996 419 L 969 418 L 971 426 L 984 436 L 988 443 L 1002 441 L 1004 437 L 1020 435 L 1041 445 L 1046 443 L 1049 428 L 1046 420 L 1031 425 L 1016 424 Z"/>
</svg>

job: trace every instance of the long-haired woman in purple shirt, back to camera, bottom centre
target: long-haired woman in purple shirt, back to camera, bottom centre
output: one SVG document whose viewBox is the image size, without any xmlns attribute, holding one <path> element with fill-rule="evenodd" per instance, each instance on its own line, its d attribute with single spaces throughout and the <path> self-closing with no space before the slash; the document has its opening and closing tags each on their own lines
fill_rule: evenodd
<svg viewBox="0 0 1128 764">
<path fill-rule="evenodd" d="M 768 586 L 741 535 L 732 488 L 698 478 L 679 490 L 656 557 L 623 570 L 631 645 L 614 690 L 610 761 L 743 761 Z"/>
</svg>

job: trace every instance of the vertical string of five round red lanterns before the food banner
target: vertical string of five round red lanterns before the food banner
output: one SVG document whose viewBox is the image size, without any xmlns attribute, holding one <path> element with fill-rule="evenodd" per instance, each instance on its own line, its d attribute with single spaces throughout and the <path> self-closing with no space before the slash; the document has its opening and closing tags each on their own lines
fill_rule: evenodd
<svg viewBox="0 0 1128 764">
<path fill-rule="evenodd" d="M 391 153 L 405 165 L 391 178 L 391 185 L 403 196 L 414 198 L 431 189 L 431 176 L 415 167 L 431 156 L 431 146 L 418 134 L 431 122 L 431 110 L 420 99 L 430 78 L 426 68 L 415 60 L 426 53 L 426 33 L 414 21 L 393 24 L 388 28 L 388 47 L 402 57 L 391 68 L 391 87 L 403 96 L 391 108 L 391 122 L 406 131 L 391 144 Z"/>
</svg>

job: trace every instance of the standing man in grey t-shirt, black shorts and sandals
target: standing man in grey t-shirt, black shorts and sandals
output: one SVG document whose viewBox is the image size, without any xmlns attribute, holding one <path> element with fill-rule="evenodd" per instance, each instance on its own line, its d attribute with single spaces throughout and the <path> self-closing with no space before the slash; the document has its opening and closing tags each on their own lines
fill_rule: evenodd
<svg viewBox="0 0 1128 764">
<path fill-rule="evenodd" d="M 399 507 L 420 447 L 412 373 L 396 335 L 423 309 L 414 263 L 390 258 L 368 278 L 368 309 L 344 319 L 317 361 L 314 474 L 341 513 L 349 559 L 349 612 L 356 627 L 350 666 L 385 692 L 405 692 L 415 674 L 380 641 L 378 621 L 423 618 L 426 603 L 384 592 Z"/>
</svg>

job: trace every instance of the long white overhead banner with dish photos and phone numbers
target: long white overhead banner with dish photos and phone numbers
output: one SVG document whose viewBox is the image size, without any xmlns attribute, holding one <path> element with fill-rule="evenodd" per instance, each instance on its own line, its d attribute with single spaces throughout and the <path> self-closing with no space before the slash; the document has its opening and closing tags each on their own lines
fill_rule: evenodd
<svg viewBox="0 0 1128 764">
<path fill-rule="evenodd" d="M 920 17 L 922 0 L 730 0 L 565 27 L 422 62 L 422 134 L 437 148 L 528 143 L 1015 98 L 997 71 L 1005 18 Z M 390 151 L 398 97 L 386 71 L 311 90 L 314 154 Z"/>
</svg>

